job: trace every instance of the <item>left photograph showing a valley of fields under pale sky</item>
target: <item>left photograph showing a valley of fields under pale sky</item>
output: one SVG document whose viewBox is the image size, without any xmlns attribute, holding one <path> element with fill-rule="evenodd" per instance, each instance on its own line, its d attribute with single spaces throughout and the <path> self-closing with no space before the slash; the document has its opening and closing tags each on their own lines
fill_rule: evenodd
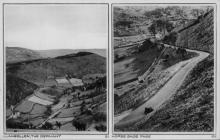
<svg viewBox="0 0 220 140">
<path fill-rule="evenodd" d="M 107 4 L 4 4 L 4 128 L 107 132 Z"/>
</svg>

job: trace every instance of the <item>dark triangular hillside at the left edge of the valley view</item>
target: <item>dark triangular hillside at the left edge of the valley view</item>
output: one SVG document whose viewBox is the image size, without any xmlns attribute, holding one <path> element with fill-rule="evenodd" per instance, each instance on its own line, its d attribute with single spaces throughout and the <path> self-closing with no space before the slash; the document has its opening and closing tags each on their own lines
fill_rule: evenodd
<svg viewBox="0 0 220 140">
<path fill-rule="evenodd" d="M 7 75 L 6 79 L 6 106 L 16 105 L 28 95 L 31 95 L 37 85 L 21 78 Z"/>
</svg>

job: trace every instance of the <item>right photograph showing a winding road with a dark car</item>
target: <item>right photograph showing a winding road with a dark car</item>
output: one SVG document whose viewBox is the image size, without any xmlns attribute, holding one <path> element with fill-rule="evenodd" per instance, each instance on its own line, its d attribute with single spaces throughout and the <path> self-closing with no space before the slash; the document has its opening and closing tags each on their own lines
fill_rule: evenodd
<svg viewBox="0 0 220 140">
<path fill-rule="evenodd" d="M 112 10 L 114 132 L 213 132 L 215 5 Z"/>
</svg>

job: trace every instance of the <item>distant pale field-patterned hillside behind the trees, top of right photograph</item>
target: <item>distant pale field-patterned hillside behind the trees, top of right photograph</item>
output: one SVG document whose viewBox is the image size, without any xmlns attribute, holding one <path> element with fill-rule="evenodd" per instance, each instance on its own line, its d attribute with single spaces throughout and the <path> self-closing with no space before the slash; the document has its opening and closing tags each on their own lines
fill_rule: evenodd
<svg viewBox="0 0 220 140">
<path fill-rule="evenodd" d="M 150 35 L 149 27 L 158 19 L 173 27 L 188 23 L 204 13 L 207 7 L 190 6 L 116 6 L 114 7 L 114 37 Z"/>
</svg>

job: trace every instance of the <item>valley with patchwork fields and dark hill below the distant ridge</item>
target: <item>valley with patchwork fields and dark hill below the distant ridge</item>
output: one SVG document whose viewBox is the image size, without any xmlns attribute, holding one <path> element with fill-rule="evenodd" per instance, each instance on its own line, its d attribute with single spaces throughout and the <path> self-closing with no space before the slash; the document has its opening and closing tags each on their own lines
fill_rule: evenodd
<svg viewBox="0 0 220 140">
<path fill-rule="evenodd" d="M 105 57 L 78 52 L 9 63 L 6 72 L 7 131 L 107 130 Z"/>
</svg>

